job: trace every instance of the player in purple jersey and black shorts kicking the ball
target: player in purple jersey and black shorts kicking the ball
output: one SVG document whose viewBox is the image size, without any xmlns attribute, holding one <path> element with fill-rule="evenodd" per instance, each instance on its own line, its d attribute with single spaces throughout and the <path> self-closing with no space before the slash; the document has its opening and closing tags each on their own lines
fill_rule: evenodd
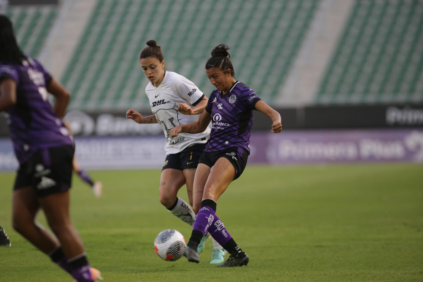
<svg viewBox="0 0 423 282">
<path fill-rule="evenodd" d="M 234 79 L 235 72 L 228 50 L 229 47 L 223 44 L 215 47 L 211 51 L 212 57 L 206 63 L 206 74 L 216 87 L 209 97 L 206 111 L 201 114 L 198 122 L 178 125 L 169 133 L 173 137 L 181 132 L 202 132 L 211 122 L 210 139 L 194 178 L 194 195 L 201 195 L 202 201 L 187 245 L 187 259 L 200 262 L 197 246 L 204 233 L 209 232 L 231 254 L 228 260 L 217 267 L 242 266 L 249 261 L 247 254 L 239 248 L 217 217 L 216 206 L 217 199 L 241 175 L 247 164 L 253 110 L 272 119 L 273 133 L 282 130 L 280 114 L 266 105 L 252 89 Z M 196 202 L 194 199 L 194 204 Z"/>
</svg>

